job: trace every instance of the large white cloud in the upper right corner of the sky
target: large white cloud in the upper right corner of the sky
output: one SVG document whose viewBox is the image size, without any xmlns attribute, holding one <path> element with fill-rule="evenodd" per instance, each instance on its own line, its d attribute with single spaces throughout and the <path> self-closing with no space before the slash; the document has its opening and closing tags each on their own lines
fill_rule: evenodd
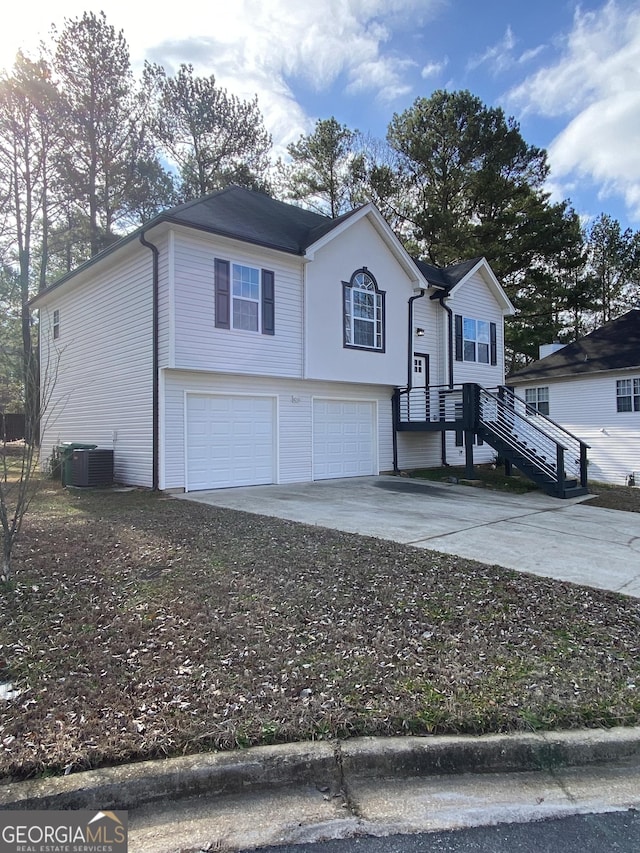
<svg viewBox="0 0 640 853">
<path fill-rule="evenodd" d="M 562 55 L 509 93 L 524 111 L 568 118 L 549 146 L 557 186 L 584 178 L 640 221 L 640 10 L 576 11 Z"/>
</svg>

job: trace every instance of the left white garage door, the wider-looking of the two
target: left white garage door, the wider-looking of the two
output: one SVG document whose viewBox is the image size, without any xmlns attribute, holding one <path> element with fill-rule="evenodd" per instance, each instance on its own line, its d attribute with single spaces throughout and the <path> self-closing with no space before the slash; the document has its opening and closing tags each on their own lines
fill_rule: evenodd
<svg viewBox="0 0 640 853">
<path fill-rule="evenodd" d="M 271 397 L 187 394 L 187 490 L 274 481 Z"/>
</svg>

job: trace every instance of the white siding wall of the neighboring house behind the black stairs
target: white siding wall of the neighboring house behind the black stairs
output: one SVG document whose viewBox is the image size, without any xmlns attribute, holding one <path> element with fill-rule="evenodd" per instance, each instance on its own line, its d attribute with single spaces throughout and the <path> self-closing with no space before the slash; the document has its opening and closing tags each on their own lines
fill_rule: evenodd
<svg viewBox="0 0 640 853">
<path fill-rule="evenodd" d="M 617 382 L 633 376 L 618 372 L 545 380 L 553 420 L 589 445 L 590 481 L 625 485 L 629 474 L 640 471 L 640 412 L 617 410 Z M 524 399 L 534 387 L 514 390 Z"/>
</svg>

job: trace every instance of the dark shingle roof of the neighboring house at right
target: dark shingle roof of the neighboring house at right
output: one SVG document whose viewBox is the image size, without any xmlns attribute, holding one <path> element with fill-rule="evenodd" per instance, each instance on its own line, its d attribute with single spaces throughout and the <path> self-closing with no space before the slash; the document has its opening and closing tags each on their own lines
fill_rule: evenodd
<svg viewBox="0 0 640 853">
<path fill-rule="evenodd" d="M 640 309 L 610 320 L 579 341 L 512 373 L 507 382 L 524 383 L 603 370 L 640 369 Z"/>
</svg>

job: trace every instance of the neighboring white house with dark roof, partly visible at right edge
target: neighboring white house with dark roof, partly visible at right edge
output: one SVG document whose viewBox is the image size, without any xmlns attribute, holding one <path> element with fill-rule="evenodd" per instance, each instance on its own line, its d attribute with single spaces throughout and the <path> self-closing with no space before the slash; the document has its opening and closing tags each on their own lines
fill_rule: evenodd
<svg viewBox="0 0 640 853">
<path fill-rule="evenodd" d="M 589 445 L 589 479 L 640 485 L 640 309 L 511 374 L 527 403 Z"/>
</svg>

